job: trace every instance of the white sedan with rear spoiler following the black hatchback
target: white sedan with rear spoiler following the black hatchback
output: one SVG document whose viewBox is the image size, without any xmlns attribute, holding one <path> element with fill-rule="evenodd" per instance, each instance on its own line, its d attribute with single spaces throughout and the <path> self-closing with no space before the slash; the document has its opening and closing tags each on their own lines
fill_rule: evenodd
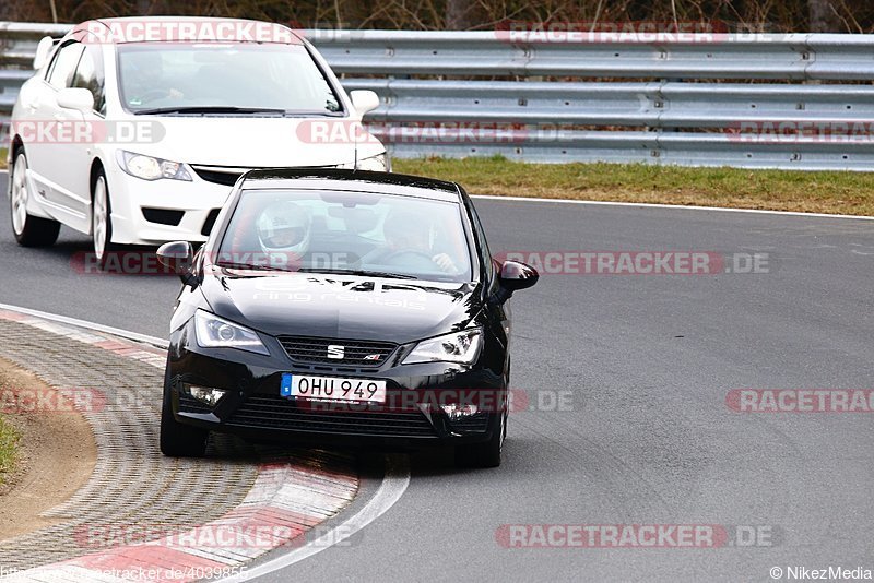
<svg viewBox="0 0 874 583">
<path fill-rule="evenodd" d="M 390 170 L 385 146 L 361 130 L 379 98 L 346 95 L 306 39 L 276 24 L 186 17 L 189 33 L 224 35 L 200 41 L 173 22 L 92 21 L 39 43 L 10 126 L 20 245 L 52 245 L 60 224 L 91 235 L 98 262 L 118 245 L 202 242 L 248 169 Z M 119 34 L 153 24 L 155 38 Z"/>
</svg>

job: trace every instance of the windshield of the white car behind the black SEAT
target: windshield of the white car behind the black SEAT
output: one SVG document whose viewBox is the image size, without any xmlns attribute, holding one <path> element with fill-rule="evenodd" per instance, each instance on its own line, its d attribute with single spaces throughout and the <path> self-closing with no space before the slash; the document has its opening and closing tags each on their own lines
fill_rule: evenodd
<svg viewBox="0 0 874 583">
<path fill-rule="evenodd" d="M 116 50 L 121 102 L 134 114 L 342 114 L 300 45 L 141 43 Z"/>
</svg>

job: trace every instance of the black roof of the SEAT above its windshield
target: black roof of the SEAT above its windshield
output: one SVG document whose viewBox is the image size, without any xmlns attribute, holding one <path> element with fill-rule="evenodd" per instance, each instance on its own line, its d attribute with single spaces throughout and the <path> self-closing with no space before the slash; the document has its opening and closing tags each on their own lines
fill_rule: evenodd
<svg viewBox="0 0 874 583">
<path fill-rule="evenodd" d="M 249 170 L 240 180 L 241 190 L 351 190 L 451 202 L 459 202 L 461 190 L 454 182 L 446 180 L 366 170 L 267 168 Z"/>
</svg>

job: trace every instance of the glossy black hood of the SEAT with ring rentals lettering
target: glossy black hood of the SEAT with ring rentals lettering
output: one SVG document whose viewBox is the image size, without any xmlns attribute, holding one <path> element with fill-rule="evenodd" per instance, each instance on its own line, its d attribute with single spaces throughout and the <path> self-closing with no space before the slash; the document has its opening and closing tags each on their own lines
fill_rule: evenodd
<svg viewBox="0 0 874 583">
<path fill-rule="evenodd" d="M 463 330 L 481 309 L 472 283 L 213 267 L 202 291 L 217 316 L 274 336 L 405 344 Z"/>
</svg>

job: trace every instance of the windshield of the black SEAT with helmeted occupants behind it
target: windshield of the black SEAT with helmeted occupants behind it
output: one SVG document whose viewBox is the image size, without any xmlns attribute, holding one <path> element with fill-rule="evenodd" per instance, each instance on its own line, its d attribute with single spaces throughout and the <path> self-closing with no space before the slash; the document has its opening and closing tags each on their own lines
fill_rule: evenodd
<svg viewBox="0 0 874 583">
<path fill-rule="evenodd" d="M 218 265 L 471 281 L 461 205 L 370 192 L 246 190 Z"/>
</svg>

